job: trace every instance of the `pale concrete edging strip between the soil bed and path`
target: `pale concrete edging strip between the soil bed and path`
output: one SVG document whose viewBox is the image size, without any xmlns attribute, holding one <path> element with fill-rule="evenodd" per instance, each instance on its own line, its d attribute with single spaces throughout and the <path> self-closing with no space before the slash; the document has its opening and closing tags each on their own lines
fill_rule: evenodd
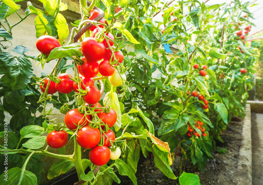
<svg viewBox="0 0 263 185">
<path fill-rule="evenodd" d="M 237 184 L 252 185 L 252 139 L 251 139 L 251 109 L 250 104 L 245 107 L 246 116 L 243 120 L 242 142 L 237 164 Z M 246 173 L 242 173 L 242 171 Z M 240 172 L 240 173 L 239 173 Z"/>
</svg>

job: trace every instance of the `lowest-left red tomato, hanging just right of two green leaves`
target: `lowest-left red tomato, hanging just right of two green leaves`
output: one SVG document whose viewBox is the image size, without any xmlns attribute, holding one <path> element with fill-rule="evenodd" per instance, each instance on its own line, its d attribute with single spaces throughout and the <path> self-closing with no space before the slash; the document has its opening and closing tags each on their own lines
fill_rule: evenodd
<svg viewBox="0 0 263 185">
<path fill-rule="evenodd" d="M 68 133 L 65 130 L 53 130 L 47 136 L 47 144 L 51 148 L 62 148 L 68 143 Z"/>
</svg>

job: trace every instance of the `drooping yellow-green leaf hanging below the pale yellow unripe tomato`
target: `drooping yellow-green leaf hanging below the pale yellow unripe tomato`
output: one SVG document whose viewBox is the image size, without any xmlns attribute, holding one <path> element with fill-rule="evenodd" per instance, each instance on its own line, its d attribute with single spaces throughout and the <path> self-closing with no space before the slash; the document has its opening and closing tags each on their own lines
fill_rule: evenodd
<svg viewBox="0 0 263 185">
<path fill-rule="evenodd" d="M 120 127 L 122 126 L 122 112 L 120 111 L 120 103 L 118 99 L 118 94 L 113 92 L 113 86 L 111 87 L 110 92 L 107 92 L 105 94 L 105 97 L 103 99 L 103 105 L 109 106 L 117 113 L 117 121 L 113 125 L 113 127 L 115 131 L 120 130 Z"/>
</svg>

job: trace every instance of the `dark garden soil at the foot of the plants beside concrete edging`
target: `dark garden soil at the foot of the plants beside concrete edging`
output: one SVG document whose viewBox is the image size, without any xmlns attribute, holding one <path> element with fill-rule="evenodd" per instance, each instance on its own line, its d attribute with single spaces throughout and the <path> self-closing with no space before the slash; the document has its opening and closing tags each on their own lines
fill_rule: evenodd
<svg viewBox="0 0 263 185">
<path fill-rule="evenodd" d="M 235 185 L 237 180 L 237 162 L 239 156 L 239 150 L 242 141 L 242 120 L 237 118 L 233 119 L 232 122 L 228 125 L 226 131 L 222 133 L 222 140 L 224 143 L 219 141 L 216 143 L 216 146 L 219 149 L 227 148 L 225 154 L 217 152 L 216 148 L 213 148 L 212 155 L 214 160 L 208 160 L 204 173 L 200 172 L 198 169 L 195 169 L 193 164 L 186 161 L 185 172 L 198 174 L 200 183 L 203 185 Z M 179 167 L 180 167 L 180 156 L 175 156 L 174 162 L 171 165 L 176 177 L 179 176 Z M 183 165 L 184 168 L 184 165 Z M 239 171 L 240 173 L 240 171 Z M 242 173 L 246 173 L 245 171 Z M 179 184 L 178 179 L 173 180 L 167 178 L 161 170 L 159 170 L 155 164 L 153 158 L 143 158 L 141 157 L 138 163 L 137 172 L 136 172 L 138 184 L 163 184 L 163 185 L 172 185 Z M 118 177 L 121 180 L 120 184 L 129 185 L 133 184 L 132 181 L 127 176 L 121 176 L 118 174 Z M 117 185 L 117 183 L 113 183 Z"/>
</svg>

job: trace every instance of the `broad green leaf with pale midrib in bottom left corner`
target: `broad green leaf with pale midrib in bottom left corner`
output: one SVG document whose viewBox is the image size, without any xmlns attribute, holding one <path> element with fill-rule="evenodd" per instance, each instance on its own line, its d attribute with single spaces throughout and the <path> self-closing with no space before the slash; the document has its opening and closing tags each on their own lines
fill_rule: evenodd
<svg viewBox="0 0 263 185">
<path fill-rule="evenodd" d="M 32 172 L 20 168 L 11 168 L 7 171 L 8 178 L 4 177 L 5 173 L 0 176 L 0 184 L 2 185 L 36 185 L 37 177 Z"/>
</svg>

